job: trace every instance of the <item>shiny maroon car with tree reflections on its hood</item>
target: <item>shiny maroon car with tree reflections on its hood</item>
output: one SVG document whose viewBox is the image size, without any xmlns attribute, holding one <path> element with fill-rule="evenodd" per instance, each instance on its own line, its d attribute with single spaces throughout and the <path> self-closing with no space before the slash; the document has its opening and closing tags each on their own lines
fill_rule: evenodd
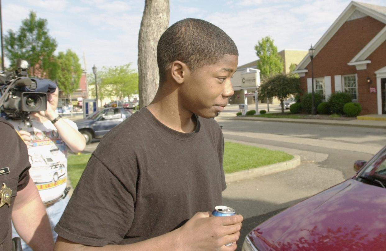
<svg viewBox="0 0 386 251">
<path fill-rule="evenodd" d="M 386 250 L 386 147 L 354 169 L 351 179 L 257 226 L 242 251 Z"/>
</svg>

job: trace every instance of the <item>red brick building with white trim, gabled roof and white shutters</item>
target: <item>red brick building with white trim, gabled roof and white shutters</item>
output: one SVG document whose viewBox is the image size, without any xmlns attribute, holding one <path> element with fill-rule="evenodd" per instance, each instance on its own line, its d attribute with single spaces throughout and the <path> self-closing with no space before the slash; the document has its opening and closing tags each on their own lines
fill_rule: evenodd
<svg viewBox="0 0 386 251">
<path fill-rule="evenodd" d="M 313 83 L 308 54 L 295 69 L 303 91 L 347 92 L 361 115 L 386 113 L 386 7 L 350 2 L 314 49 Z"/>
</svg>

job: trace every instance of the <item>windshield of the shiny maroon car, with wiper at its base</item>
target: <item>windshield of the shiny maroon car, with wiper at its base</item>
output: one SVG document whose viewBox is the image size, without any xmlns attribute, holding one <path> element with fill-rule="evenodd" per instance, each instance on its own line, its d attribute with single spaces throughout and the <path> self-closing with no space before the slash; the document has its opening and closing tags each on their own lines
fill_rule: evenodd
<svg viewBox="0 0 386 251">
<path fill-rule="evenodd" d="M 358 176 L 381 182 L 386 186 L 386 150 L 371 160 L 370 165 Z"/>
</svg>

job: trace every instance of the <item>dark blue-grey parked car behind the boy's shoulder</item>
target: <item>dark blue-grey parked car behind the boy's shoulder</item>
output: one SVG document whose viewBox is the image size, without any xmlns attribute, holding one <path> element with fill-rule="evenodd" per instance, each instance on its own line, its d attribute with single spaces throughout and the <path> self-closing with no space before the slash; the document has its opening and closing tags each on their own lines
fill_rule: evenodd
<svg viewBox="0 0 386 251">
<path fill-rule="evenodd" d="M 80 133 L 86 138 L 86 144 L 93 138 L 102 138 L 114 126 L 120 124 L 132 115 L 130 109 L 123 107 L 108 107 L 97 111 L 83 120 L 74 121 Z"/>
</svg>

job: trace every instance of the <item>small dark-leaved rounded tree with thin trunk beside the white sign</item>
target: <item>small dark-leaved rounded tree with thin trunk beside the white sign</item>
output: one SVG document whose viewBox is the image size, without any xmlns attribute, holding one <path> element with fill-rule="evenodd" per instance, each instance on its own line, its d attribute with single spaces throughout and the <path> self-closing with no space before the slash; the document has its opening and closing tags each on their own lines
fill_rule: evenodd
<svg viewBox="0 0 386 251">
<path fill-rule="evenodd" d="M 284 100 L 300 92 L 300 80 L 292 75 L 277 74 L 266 79 L 266 82 L 259 86 L 260 97 L 276 97 L 280 100 L 282 114 L 284 114 Z"/>
</svg>

